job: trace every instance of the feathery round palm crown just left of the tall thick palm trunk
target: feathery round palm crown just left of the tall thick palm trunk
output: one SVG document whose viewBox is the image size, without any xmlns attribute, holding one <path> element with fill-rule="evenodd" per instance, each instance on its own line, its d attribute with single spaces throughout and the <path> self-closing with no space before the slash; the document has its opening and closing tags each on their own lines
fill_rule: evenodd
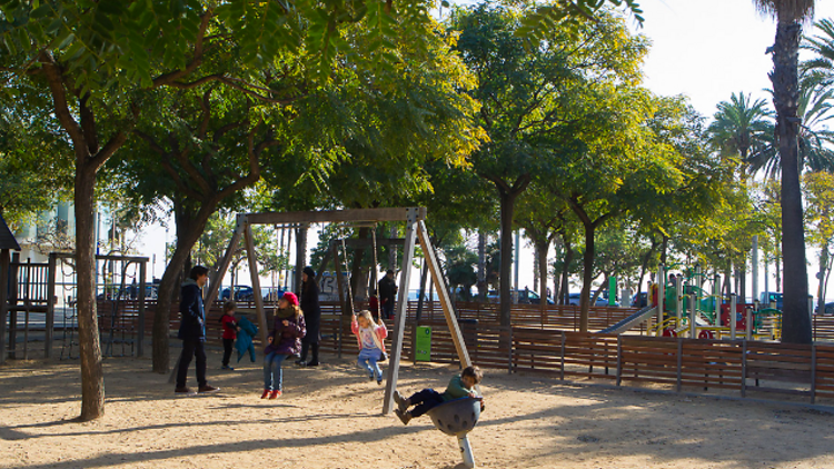
<svg viewBox="0 0 834 469">
<path fill-rule="evenodd" d="M 707 128 L 709 142 L 724 157 L 741 161 L 766 152 L 773 142 L 773 111 L 764 99 L 753 101 L 743 92 L 718 103 L 713 122 Z"/>
</svg>

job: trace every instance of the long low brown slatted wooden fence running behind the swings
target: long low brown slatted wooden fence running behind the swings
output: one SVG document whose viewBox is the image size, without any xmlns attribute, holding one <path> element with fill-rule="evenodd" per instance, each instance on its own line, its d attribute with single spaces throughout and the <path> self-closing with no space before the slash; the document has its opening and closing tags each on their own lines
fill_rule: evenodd
<svg viewBox="0 0 834 469">
<path fill-rule="evenodd" d="M 244 315 L 251 315 L 241 305 Z M 595 308 L 593 329 L 603 329 L 632 313 L 633 309 Z M 417 320 L 416 305 L 409 303 L 404 331 L 403 357 L 414 360 L 418 326 L 431 327 L 431 361 L 457 362 L 451 336 L 437 303 L 425 305 Z M 834 318 L 815 317 L 817 342 L 811 346 L 747 340 L 702 340 L 645 335 L 602 335 L 575 331 L 578 313 L 572 307 L 550 307 L 546 315 L 536 306 L 514 308 L 513 326 L 499 326 L 496 307 L 458 303 L 459 325 L 474 363 L 508 372 L 545 373 L 559 379 L 593 380 L 626 387 L 652 387 L 689 392 L 746 396 L 798 397 L 815 402 L 834 399 L 834 343 L 820 340 L 834 330 Z M 129 330 L 138 333 L 135 302 L 125 301 L 118 311 L 99 305 L 102 342 Z M 272 309 L 267 308 L 271 320 Z M 219 345 L 220 305 L 209 309 L 208 340 Z M 152 330 L 153 305 L 143 321 L 145 337 Z M 171 335 L 179 325 L 176 306 L 169 315 Z M 389 328 L 391 325 L 388 325 Z M 355 356 L 357 341 L 349 318 L 336 305 L 322 305 L 321 350 Z M 119 340 L 111 341 L 112 345 Z M 390 342 L 388 342 L 390 343 Z"/>
</svg>

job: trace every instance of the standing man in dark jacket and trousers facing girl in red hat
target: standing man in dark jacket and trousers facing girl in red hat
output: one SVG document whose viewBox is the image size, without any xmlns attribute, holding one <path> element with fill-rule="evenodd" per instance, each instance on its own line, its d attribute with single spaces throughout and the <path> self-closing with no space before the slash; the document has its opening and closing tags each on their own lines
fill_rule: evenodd
<svg viewBox="0 0 834 469">
<path fill-rule="evenodd" d="M 195 266 L 188 279 L 182 282 L 180 290 L 179 312 L 181 322 L 177 338 L 182 340 L 182 355 L 179 358 L 177 370 L 177 393 L 190 393 L 186 386 L 188 379 L 188 366 L 191 358 L 197 358 L 197 385 L 198 392 L 215 392 L 215 388 L 206 381 L 206 311 L 202 306 L 202 287 L 208 281 L 208 269 Z"/>
</svg>

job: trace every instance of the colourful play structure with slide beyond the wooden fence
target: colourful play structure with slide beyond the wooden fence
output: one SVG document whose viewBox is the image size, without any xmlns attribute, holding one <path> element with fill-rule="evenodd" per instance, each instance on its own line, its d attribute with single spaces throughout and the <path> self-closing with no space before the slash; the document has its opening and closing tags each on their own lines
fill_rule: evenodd
<svg viewBox="0 0 834 469">
<path fill-rule="evenodd" d="M 648 306 L 600 332 L 624 333 L 648 321 L 651 331 L 663 337 L 781 339 L 782 311 L 775 303 L 746 303 L 735 293 L 722 296 L 721 277 L 708 277 L 698 266 L 667 276 L 674 267 L 678 266 L 659 266 L 657 278 L 663 281 L 651 285 Z"/>
</svg>

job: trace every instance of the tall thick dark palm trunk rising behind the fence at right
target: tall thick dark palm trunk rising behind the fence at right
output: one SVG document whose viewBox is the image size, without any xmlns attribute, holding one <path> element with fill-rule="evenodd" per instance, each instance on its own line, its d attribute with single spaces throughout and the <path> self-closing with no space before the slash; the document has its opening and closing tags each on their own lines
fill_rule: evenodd
<svg viewBox="0 0 834 469">
<path fill-rule="evenodd" d="M 808 273 L 805 227 L 800 186 L 800 73 L 802 22 L 813 17 L 814 0 L 753 0 L 756 8 L 776 19 L 773 44 L 773 103 L 776 140 L 782 160 L 782 256 L 785 272 L 782 340 L 811 343 Z"/>
</svg>

